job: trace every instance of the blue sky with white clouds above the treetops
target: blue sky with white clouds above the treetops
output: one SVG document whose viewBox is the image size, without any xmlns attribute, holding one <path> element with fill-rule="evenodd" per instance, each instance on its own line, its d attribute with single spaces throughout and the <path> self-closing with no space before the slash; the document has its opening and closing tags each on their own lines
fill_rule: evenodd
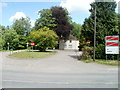
<svg viewBox="0 0 120 90">
<path fill-rule="evenodd" d="M 9 1 L 9 0 L 8 0 Z M 26 0 L 24 0 L 26 1 Z M 117 2 L 119 0 L 116 0 Z M 58 0 L 54 2 L 2 2 L 0 3 L 0 16 L 2 22 L 1 25 L 10 26 L 13 21 L 16 19 L 20 19 L 21 17 L 29 17 L 31 21 L 31 25 L 34 26 L 34 22 L 40 16 L 38 15 L 38 11 L 42 9 L 49 9 L 51 6 L 62 6 L 69 11 L 70 16 L 72 17 L 72 21 L 78 24 L 83 24 L 84 19 L 88 18 L 90 13 L 90 3 L 94 2 L 94 0 Z M 116 9 L 118 11 L 118 9 Z"/>
</svg>

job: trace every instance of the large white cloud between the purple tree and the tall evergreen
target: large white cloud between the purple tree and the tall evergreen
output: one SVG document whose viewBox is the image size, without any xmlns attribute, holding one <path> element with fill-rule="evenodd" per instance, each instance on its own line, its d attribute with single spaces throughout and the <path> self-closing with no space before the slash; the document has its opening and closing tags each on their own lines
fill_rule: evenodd
<svg viewBox="0 0 120 90">
<path fill-rule="evenodd" d="M 60 3 L 60 6 L 66 8 L 69 13 L 85 12 L 89 13 L 90 4 L 95 0 L 66 0 Z M 117 3 L 120 0 L 115 0 Z"/>
</svg>

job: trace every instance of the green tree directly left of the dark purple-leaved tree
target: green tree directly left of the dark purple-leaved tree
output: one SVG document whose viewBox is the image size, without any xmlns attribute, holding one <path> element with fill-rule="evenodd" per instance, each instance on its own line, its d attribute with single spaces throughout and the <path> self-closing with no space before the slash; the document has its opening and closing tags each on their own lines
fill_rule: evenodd
<svg viewBox="0 0 120 90">
<path fill-rule="evenodd" d="M 40 18 L 36 20 L 35 22 L 35 30 L 38 30 L 43 27 L 49 27 L 50 29 L 54 29 L 55 24 L 55 18 L 52 15 L 51 9 L 43 9 L 38 12 L 40 15 Z"/>
</svg>

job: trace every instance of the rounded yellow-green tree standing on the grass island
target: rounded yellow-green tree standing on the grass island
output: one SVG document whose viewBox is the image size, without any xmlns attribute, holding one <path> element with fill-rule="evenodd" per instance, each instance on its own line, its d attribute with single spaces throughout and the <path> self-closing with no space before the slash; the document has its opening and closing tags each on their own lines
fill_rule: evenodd
<svg viewBox="0 0 120 90">
<path fill-rule="evenodd" d="M 31 42 L 35 42 L 35 47 L 40 51 L 45 51 L 46 48 L 54 48 L 58 43 L 56 33 L 47 27 L 31 31 L 29 39 Z"/>
</svg>

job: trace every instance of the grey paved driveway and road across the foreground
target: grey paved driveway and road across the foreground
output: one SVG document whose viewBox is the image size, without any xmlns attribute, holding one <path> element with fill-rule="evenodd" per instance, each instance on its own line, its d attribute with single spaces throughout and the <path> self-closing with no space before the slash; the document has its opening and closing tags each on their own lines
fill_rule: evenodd
<svg viewBox="0 0 120 90">
<path fill-rule="evenodd" d="M 3 53 L 4 88 L 117 88 L 118 67 L 77 60 L 75 51 L 19 60 Z"/>
</svg>

